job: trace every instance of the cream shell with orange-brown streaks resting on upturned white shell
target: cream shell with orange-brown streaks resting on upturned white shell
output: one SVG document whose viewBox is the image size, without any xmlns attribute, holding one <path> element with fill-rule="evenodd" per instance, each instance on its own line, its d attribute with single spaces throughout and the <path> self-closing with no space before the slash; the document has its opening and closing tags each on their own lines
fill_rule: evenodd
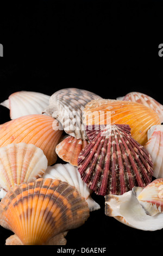
<svg viewBox="0 0 163 256">
<path fill-rule="evenodd" d="M 146 214 L 154 216 L 163 212 L 163 179 L 155 179 L 145 188 L 134 187 L 133 191 Z"/>
</svg>

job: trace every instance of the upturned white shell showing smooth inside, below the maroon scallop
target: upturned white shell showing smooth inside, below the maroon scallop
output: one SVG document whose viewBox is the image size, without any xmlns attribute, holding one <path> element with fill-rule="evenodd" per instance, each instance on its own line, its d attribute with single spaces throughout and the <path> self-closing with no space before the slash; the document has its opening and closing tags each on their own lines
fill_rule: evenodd
<svg viewBox="0 0 163 256">
<path fill-rule="evenodd" d="M 155 231 L 163 228 L 163 214 L 147 215 L 133 191 L 121 196 L 106 195 L 105 215 L 135 229 Z"/>
</svg>

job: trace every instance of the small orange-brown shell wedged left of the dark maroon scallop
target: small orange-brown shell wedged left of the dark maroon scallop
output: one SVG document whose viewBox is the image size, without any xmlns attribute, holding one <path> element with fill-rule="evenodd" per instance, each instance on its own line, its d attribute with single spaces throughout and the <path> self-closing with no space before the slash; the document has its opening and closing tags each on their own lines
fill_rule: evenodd
<svg viewBox="0 0 163 256">
<path fill-rule="evenodd" d="M 87 140 L 76 139 L 70 135 L 56 146 L 55 151 L 65 162 L 78 166 L 79 153 L 87 144 Z"/>
</svg>

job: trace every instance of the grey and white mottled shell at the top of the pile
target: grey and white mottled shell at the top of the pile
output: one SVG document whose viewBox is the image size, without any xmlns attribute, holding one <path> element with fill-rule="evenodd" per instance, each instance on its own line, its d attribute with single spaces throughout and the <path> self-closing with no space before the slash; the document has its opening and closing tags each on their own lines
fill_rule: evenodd
<svg viewBox="0 0 163 256">
<path fill-rule="evenodd" d="M 87 139 L 83 125 L 83 109 L 93 99 L 102 99 L 95 93 L 77 88 L 66 88 L 55 92 L 49 106 L 42 113 L 58 119 L 64 131 L 77 139 Z"/>
</svg>

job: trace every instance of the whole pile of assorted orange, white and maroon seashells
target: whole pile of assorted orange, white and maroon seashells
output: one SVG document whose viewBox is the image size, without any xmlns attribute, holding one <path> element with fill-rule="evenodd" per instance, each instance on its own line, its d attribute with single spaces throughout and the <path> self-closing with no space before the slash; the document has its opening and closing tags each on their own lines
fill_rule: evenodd
<svg viewBox="0 0 163 256">
<path fill-rule="evenodd" d="M 163 228 L 163 106 L 131 92 L 102 99 L 65 88 L 16 92 L 1 103 L 0 224 L 6 245 L 65 245 L 100 209 L 141 230 Z M 65 164 L 56 163 L 57 159 Z"/>
</svg>

